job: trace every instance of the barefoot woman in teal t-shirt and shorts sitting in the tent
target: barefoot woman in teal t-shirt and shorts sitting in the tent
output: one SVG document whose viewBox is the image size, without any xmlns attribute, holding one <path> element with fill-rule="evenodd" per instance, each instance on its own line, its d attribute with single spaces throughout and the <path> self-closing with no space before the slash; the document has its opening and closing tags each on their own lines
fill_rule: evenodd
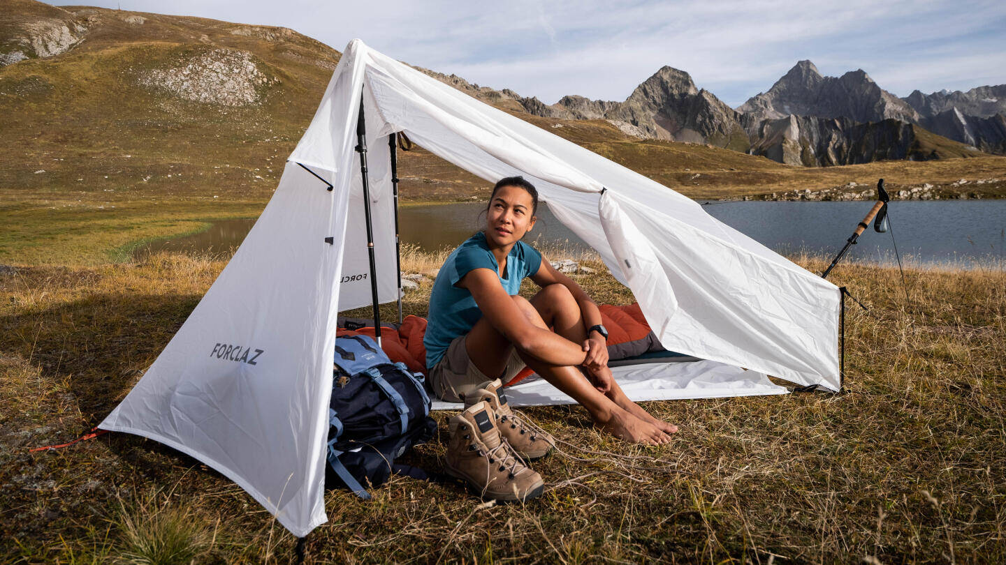
<svg viewBox="0 0 1006 565">
<path fill-rule="evenodd" d="M 520 240 L 534 227 L 537 207 L 531 183 L 522 177 L 499 181 L 484 231 L 455 249 L 441 268 L 424 340 L 434 392 L 471 404 L 482 398 L 466 395 L 487 387 L 495 392 L 500 385 L 493 381 L 506 383 L 526 365 L 586 408 L 601 429 L 629 441 L 670 441 L 677 426 L 626 397 L 612 377 L 597 305 Z M 530 301 L 518 295 L 526 276 L 541 287 Z"/>
</svg>

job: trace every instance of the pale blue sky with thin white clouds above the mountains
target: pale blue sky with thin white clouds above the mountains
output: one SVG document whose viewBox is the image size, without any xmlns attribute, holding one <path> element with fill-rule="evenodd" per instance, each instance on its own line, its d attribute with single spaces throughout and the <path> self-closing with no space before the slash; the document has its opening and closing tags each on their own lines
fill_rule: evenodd
<svg viewBox="0 0 1006 565">
<path fill-rule="evenodd" d="M 624 101 L 660 67 L 731 107 L 798 60 L 862 68 L 882 88 L 1006 83 L 1006 2 L 930 0 L 82 0 L 79 4 L 290 27 L 342 50 L 359 38 L 409 64 L 553 104 Z M 79 5 L 77 4 L 77 5 Z"/>
</svg>

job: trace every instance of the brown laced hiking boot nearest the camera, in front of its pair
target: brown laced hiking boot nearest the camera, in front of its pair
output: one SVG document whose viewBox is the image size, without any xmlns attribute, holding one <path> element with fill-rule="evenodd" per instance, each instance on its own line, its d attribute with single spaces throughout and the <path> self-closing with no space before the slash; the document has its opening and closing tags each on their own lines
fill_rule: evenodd
<svg viewBox="0 0 1006 565">
<path fill-rule="evenodd" d="M 514 452 L 496 427 L 493 409 L 479 402 L 451 418 L 447 473 L 462 479 L 485 500 L 524 502 L 541 495 L 545 484 Z"/>
</svg>

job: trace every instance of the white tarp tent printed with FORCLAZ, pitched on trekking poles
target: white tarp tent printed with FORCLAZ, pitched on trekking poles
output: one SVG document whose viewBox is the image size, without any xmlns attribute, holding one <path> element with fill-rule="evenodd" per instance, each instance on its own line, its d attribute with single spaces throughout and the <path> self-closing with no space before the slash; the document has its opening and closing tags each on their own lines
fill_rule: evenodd
<svg viewBox="0 0 1006 565">
<path fill-rule="evenodd" d="M 631 397 L 785 392 L 765 374 L 840 387 L 837 287 L 692 200 L 354 40 L 259 221 L 99 427 L 204 461 L 297 536 L 327 520 L 336 317 L 370 304 L 354 151 L 361 93 L 380 302 L 398 297 L 386 142 L 404 132 L 487 183 L 516 174 L 534 183 L 632 290 L 661 343 L 708 360 L 618 368 Z M 549 388 L 528 383 L 526 403 L 561 401 Z"/>
</svg>

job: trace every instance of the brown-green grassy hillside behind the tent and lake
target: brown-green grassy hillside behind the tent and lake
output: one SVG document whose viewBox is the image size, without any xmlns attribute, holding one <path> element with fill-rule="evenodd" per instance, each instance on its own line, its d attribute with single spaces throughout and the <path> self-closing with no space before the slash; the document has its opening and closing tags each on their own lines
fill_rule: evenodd
<svg viewBox="0 0 1006 565">
<path fill-rule="evenodd" d="M 25 47 L 64 26 L 73 38 L 62 52 L 37 56 Z M 30 0 L 0 0 L 0 55 L 14 48 L 30 55 L 0 66 L 0 221 L 9 226 L 0 232 L 0 263 L 120 260 L 143 240 L 257 216 L 339 59 L 285 28 Z M 190 70 L 201 81 L 178 80 Z M 872 184 L 880 176 L 894 188 L 1006 179 L 1006 158 L 996 157 L 789 167 L 703 145 L 641 141 L 605 121 L 537 118 L 508 102 L 499 104 L 699 198 Z M 401 155 L 400 175 L 406 202 L 488 190 L 422 149 Z M 981 190 L 1006 192 L 1002 183 Z"/>
</svg>

